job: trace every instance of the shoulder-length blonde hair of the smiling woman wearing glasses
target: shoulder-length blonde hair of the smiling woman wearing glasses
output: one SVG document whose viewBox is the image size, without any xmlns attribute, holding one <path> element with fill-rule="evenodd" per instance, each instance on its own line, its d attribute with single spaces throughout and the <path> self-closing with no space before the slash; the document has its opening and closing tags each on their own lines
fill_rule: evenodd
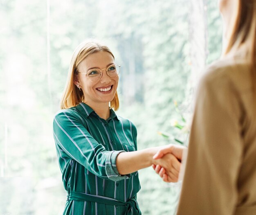
<svg viewBox="0 0 256 215">
<path fill-rule="evenodd" d="M 115 59 L 110 49 L 107 46 L 103 46 L 96 40 L 86 40 L 76 47 L 70 62 L 67 82 L 63 92 L 63 96 L 61 98 L 61 109 L 72 108 L 78 105 L 80 102 L 84 101 L 85 98 L 83 91 L 80 91 L 74 84 L 74 76 L 76 75 L 78 66 L 81 61 L 83 61 L 92 53 L 103 51 L 110 53 Z M 115 93 L 114 99 L 110 101 L 110 108 L 113 108 L 114 110 L 118 110 L 119 108 L 119 99 L 117 92 Z"/>
</svg>

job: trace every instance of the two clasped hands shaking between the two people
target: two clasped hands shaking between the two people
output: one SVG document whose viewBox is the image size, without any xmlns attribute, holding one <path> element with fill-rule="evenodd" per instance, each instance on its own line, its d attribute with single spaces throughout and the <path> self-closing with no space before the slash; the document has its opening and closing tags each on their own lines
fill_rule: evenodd
<svg viewBox="0 0 256 215">
<path fill-rule="evenodd" d="M 186 147 L 169 144 L 157 148 L 158 151 L 153 156 L 153 169 L 164 182 L 177 182 L 180 173 L 182 154 Z"/>
</svg>

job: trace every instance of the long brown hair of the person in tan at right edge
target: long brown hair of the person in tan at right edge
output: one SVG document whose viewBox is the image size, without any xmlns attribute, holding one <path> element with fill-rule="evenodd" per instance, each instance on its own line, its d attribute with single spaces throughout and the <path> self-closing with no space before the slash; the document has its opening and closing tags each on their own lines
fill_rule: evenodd
<svg viewBox="0 0 256 215">
<path fill-rule="evenodd" d="M 245 47 L 252 71 L 252 84 L 256 97 L 256 0 L 237 0 L 238 7 L 234 12 L 231 31 L 227 35 L 227 46 L 224 55 Z"/>
</svg>

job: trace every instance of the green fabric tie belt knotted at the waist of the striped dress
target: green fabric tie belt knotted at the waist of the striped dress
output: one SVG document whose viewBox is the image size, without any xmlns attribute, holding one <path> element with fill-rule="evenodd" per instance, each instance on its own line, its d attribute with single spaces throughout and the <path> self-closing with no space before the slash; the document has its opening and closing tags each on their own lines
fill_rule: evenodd
<svg viewBox="0 0 256 215">
<path fill-rule="evenodd" d="M 86 201 L 86 202 L 97 202 L 101 204 L 108 204 L 108 205 L 117 205 L 117 206 L 126 206 L 126 213 L 125 215 L 141 215 L 141 211 L 138 207 L 138 202 L 135 198 L 129 199 L 127 202 L 123 202 L 120 200 L 112 199 L 105 196 L 100 195 L 92 195 L 86 193 L 80 193 L 75 191 L 70 191 L 67 193 L 67 200 L 74 200 L 74 201 Z"/>
</svg>

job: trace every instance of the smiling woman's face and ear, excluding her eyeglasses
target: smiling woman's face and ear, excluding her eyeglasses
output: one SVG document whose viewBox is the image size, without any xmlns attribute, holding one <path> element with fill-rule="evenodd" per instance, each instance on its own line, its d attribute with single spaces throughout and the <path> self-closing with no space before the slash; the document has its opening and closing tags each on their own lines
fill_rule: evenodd
<svg viewBox="0 0 256 215">
<path fill-rule="evenodd" d="M 92 68 L 102 70 L 101 79 L 97 82 L 90 81 L 87 75 L 81 73 L 75 77 L 74 84 L 81 86 L 88 105 L 108 103 L 114 99 L 119 77 L 111 78 L 106 72 L 106 68 L 112 64 L 115 64 L 114 58 L 106 51 L 93 53 L 81 61 L 78 67 L 79 72 L 87 73 Z"/>
</svg>

